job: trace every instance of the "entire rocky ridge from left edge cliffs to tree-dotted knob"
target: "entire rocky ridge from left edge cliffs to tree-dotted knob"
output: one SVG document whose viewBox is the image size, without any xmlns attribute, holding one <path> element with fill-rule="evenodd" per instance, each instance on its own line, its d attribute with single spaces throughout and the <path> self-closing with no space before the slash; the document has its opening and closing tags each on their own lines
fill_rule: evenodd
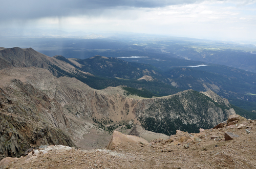
<svg viewBox="0 0 256 169">
<path fill-rule="evenodd" d="M 2 158 L 19 157 L 27 148 L 45 144 L 73 147 L 86 142 L 84 136 L 92 130 L 101 135 L 139 123 L 172 134 L 175 130 L 169 124 L 176 129 L 211 128 L 234 113 L 214 93 L 207 93 L 212 99 L 191 90 L 134 99 L 120 87 L 95 90 L 75 78 L 57 78 L 35 67 L 0 70 L 0 88 Z M 155 130 L 159 125 L 161 130 Z"/>
</svg>

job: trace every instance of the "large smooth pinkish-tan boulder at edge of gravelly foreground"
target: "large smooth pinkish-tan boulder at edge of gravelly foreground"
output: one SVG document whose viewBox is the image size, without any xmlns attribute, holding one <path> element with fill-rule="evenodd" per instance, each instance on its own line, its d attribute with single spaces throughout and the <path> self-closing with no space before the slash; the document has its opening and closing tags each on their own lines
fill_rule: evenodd
<svg viewBox="0 0 256 169">
<path fill-rule="evenodd" d="M 137 137 L 135 135 L 126 135 L 118 131 L 114 131 L 106 149 L 113 150 L 118 145 L 125 145 L 127 143 L 149 144 L 144 138 Z"/>
</svg>

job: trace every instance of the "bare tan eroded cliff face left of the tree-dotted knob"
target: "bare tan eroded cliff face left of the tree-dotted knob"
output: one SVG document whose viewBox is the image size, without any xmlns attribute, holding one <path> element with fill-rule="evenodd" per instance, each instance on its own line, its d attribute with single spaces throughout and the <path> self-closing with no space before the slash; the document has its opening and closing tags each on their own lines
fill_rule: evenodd
<svg viewBox="0 0 256 169">
<path fill-rule="evenodd" d="M 45 71 L 45 70 L 42 70 Z M 139 100 L 127 98 L 121 88 L 95 90 L 75 78 L 56 78 L 45 71 L 26 77 L 28 83 L 61 105 L 72 129 L 72 136 L 82 138 L 93 127 L 93 119 L 113 123 L 137 122 L 133 109 Z M 79 121 L 79 122 L 78 122 Z"/>
</svg>

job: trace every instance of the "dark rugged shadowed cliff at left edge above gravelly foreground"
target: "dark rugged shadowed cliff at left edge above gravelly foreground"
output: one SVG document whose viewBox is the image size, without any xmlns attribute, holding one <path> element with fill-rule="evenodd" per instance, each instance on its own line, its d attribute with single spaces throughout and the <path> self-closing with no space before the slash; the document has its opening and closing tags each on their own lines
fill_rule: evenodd
<svg viewBox="0 0 256 169">
<path fill-rule="evenodd" d="M 56 100 L 28 83 L 0 74 L 0 159 L 22 156 L 28 148 L 40 145 L 75 146 L 64 132 L 70 126 Z"/>
</svg>

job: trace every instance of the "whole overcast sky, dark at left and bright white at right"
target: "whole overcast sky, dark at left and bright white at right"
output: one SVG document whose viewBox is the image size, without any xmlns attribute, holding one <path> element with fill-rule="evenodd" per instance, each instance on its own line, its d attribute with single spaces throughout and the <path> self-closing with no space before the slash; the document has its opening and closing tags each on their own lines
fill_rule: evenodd
<svg viewBox="0 0 256 169">
<path fill-rule="evenodd" d="M 256 0 L 8 0 L 0 28 L 256 39 Z"/>
</svg>

